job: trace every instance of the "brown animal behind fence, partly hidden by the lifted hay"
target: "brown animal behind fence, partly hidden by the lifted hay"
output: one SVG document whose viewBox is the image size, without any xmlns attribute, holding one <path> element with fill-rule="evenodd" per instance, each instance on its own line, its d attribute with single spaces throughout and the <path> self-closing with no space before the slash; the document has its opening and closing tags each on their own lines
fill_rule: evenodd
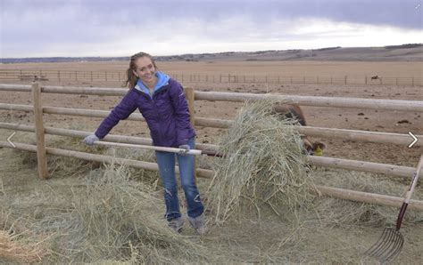
<svg viewBox="0 0 423 265">
<path fill-rule="evenodd" d="M 298 124 L 307 126 L 305 123 L 305 116 L 303 110 L 297 104 L 276 105 L 274 107 L 275 113 L 283 115 L 286 118 L 295 119 Z M 311 139 L 303 135 L 304 149 L 311 156 L 321 156 L 322 151 L 326 149 L 326 144 L 321 141 L 311 141 Z"/>
</svg>

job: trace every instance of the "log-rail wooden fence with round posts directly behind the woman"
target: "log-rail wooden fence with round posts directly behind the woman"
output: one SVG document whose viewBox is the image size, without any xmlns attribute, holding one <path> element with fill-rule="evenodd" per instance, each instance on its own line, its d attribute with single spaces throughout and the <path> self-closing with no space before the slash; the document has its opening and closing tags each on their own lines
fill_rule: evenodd
<svg viewBox="0 0 423 265">
<path fill-rule="evenodd" d="M 40 84 L 0 84 L 0 91 L 13 91 L 13 92 L 32 92 L 33 105 L 18 105 L 9 103 L 0 103 L 0 109 L 16 110 L 34 112 L 35 124 L 10 124 L 0 123 L 0 128 L 36 132 L 37 145 L 29 145 L 23 143 L 14 143 L 12 146 L 7 141 L 0 141 L 0 147 L 21 149 L 31 152 L 37 152 L 38 173 L 43 179 L 48 178 L 46 170 L 46 155 L 63 156 L 63 157 L 76 157 L 88 161 L 96 161 L 103 163 L 111 163 L 116 161 L 118 163 L 134 166 L 137 168 L 144 168 L 147 170 L 157 171 L 158 167 L 154 163 L 143 161 L 108 157 L 103 155 L 95 155 L 84 152 L 54 149 L 46 147 L 45 134 L 62 135 L 69 137 L 84 138 L 92 132 L 82 132 L 69 129 L 61 129 L 54 127 L 47 127 L 43 124 L 43 114 L 55 115 L 69 115 L 69 116 L 88 116 L 88 117 L 105 117 L 109 111 L 93 110 L 93 109 L 80 109 L 80 108 L 54 108 L 48 107 L 41 101 L 41 93 L 66 93 L 66 94 L 90 94 L 90 95 L 109 95 L 109 96 L 122 96 L 128 92 L 126 89 L 115 88 L 93 88 L 93 87 L 64 87 L 64 86 L 41 86 Z M 233 92 L 195 92 L 192 88 L 186 89 L 189 108 L 194 109 L 195 100 L 223 100 L 231 102 L 242 102 L 245 100 L 261 100 L 269 97 L 266 94 L 252 94 L 252 93 L 233 93 Z M 333 107 L 333 108 L 371 108 L 371 109 L 386 109 L 386 110 L 402 110 L 423 112 L 423 101 L 420 100 L 369 100 L 358 98 L 328 98 L 328 97 L 311 97 L 311 96 L 282 96 L 271 95 L 272 99 L 289 100 L 293 103 L 300 105 L 314 106 L 314 107 Z M 194 113 L 194 112 L 192 112 Z M 144 118 L 140 114 L 133 114 L 129 116 L 130 120 L 143 121 Z M 192 116 L 192 123 L 196 126 L 207 126 L 215 128 L 227 128 L 232 121 L 211 119 L 204 117 Z M 297 127 L 297 129 L 309 136 L 330 137 L 351 141 L 367 141 L 378 143 L 390 143 L 398 145 L 407 145 L 410 143 L 411 138 L 408 134 L 391 133 L 391 132 L 367 132 L 355 130 L 341 130 L 335 128 L 317 128 L 317 127 Z M 423 135 L 418 135 L 423 138 Z M 104 141 L 116 141 L 131 144 L 151 145 L 152 141 L 148 138 L 140 138 L 133 136 L 113 135 L 109 134 L 104 138 Z M 416 146 L 423 146 L 422 141 L 418 141 Z M 211 144 L 197 144 L 196 149 L 216 151 L 217 146 Z M 349 159 L 341 159 L 334 157 L 308 157 L 308 162 L 312 165 L 319 165 L 331 168 L 347 169 L 354 171 L 362 171 L 369 173 L 384 173 L 391 176 L 411 178 L 415 168 L 399 165 L 386 165 L 371 163 L 366 161 L 357 161 Z M 178 172 L 178 169 L 177 169 Z M 211 178 L 213 172 L 211 170 L 196 169 L 196 174 L 199 177 Z M 400 206 L 402 204 L 402 197 L 390 197 L 386 195 L 372 194 L 361 191 L 349 189 L 337 189 L 331 187 L 317 186 L 319 193 L 331 197 L 339 197 L 343 199 L 372 203 L 377 205 Z M 423 201 L 411 200 L 409 205 L 411 209 L 423 211 Z"/>
</svg>

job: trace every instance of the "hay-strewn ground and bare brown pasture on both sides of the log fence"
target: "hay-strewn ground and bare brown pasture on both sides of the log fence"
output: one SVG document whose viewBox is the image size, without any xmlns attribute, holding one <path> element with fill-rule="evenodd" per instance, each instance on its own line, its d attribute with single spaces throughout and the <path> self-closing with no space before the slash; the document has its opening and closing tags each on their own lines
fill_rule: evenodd
<svg viewBox="0 0 423 265">
<path fill-rule="evenodd" d="M 164 72 L 198 73 L 198 74 L 239 74 L 239 75 L 271 75 L 281 72 L 287 75 L 303 76 L 303 73 L 316 76 L 421 76 L 421 62 L 262 62 L 262 61 L 230 61 L 230 62 L 157 62 Z M 50 64 L 14 64 L 2 65 L 2 68 L 22 69 L 72 69 L 72 70 L 110 70 L 124 71 L 127 62 L 81 62 Z M 5 83 L 5 82 L 3 82 Z M 12 84 L 19 82 L 13 81 Z M 21 84 L 28 84 L 21 82 Z M 120 87 L 113 82 L 75 82 L 65 83 L 42 82 L 46 85 Z M 183 83 L 203 92 L 251 92 L 272 93 L 277 95 L 309 95 L 328 97 L 355 97 L 365 99 L 387 100 L 423 100 L 422 87 L 405 85 L 328 85 L 328 84 L 212 84 Z M 1 92 L 1 103 L 31 104 L 28 92 Z M 51 107 L 87 108 L 109 110 L 119 102 L 119 97 L 95 95 L 43 94 L 43 102 Z M 221 119 L 233 119 L 241 108 L 241 103 L 222 101 L 195 101 L 195 116 Z M 362 130 L 369 132 L 413 132 L 423 134 L 423 117 L 419 111 L 388 111 L 360 108 L 318 108 L 303 107 L 308 125 L 339 129 Z M 33 124 L 31 113 L 0 110 L 0 123 Z M 45 126 L 57 128 L 79 129 L 93 132 L 101 122 L 100 118 L 45 115 Z M 226 129 L 197 126 L 197 143 L 216 144 Z M 12 133 L 12 130 L 0 129 L 1 141 Z M 112 130 L 113 134 L 149 137 L 142 122 L 122 121 Z M 33 133 L 17 132 L 13 137 L 17 142 L 33 142 Z M 63 140 L 60 137 L 46 137 L 47 146 L 63 149 L 83 149 L 80 139 Z M 361 141 L 345 141 L 337 138 L 313 138 L 324 141 L 328 145 L 325 157 L 339 157 L 383 164 L 415 167 L 419 156 L 423 153 L 421 146 L 409 149 L 407 145 L 380 144 Z M 411 141 L 411 139 L 410 139 Z M 423 140 L 420 140 L 423 141 Z M 144 159 L 152 154 L 137 154 L 121 149 L 96 150 L 108 155 L 134 157 Z M 211 168 L 210 157 L 200 158 L 200 166 Z M 41 181 L 37 177 L 37 163 L 34 154 L 12 149 L 0 149 L 1 173 L 0 196 L 2 218 L 0 224 L 4 229 L 19 230 L 17 239 L 31 236 L 32 242 L 49 242 L 54 237 L 48 234 L 48 217 L 51 213 L 69 213 L 78 205 L 75 198 L 86 198 L 87 181 L 102 171 L 120 175 L 114 168 L 105 168 L 95 163 L 82 163 L 71 158 L 53 158 L 48 161 L 50 180 Z M 119 167 L 118 167 L 119 168 Z M 118 172 L 118 173 L 116 173 Z M 149 183 L 157 191 L 160 184 L 150 173 L 142 170 L 129 170 L 131 180 Z M 402 197 L 410 178 L 387 177 L 376 173 L 357 173 L 346 170 L 314 168 L 313 174 L 318 184 L 331 187 L 366 190 L 375 193 L 387 193 Z M 114 182 L 113 182 L 114 183 Z M 421 183 L 421 180 L 420 180 Z M 116 184 L 116 183 L 114 183 Z M 117 184 L 116 184 L 117 185 Z M 205 190 L 208 180 L 199 179 L 200 192 Z M 394 185 L 394 186 L 391 186 Z M 159 186 L 159 187 L 158 187 Z M 422 199 L 421 184 L 418 185 L 413 198 Z M 110 188 L 110 187 L 109 187 Z M 207 197 L 207 194 L 204 195 Z M 158 196 L 161 198 L 160 196 Z M 306 262 L 306 263 L 374 263 L 363 260 L 363 253 L 369 245 L 380 236 L 386 224 L 395 221 L 396 208 L 372 206 L 362 203 L 345 202 L 338 199 L 318 197 L 313 213 L 299 213 L 298 223 L 286 221 L 284 216 L 265 215 L 258 220 L 256 216 L 232 220 L 222 226 L 213 226 L 206 237 L 196 237 L 191 229 L 183 233 L 183 239 L 206 248 L 198 250 L 196 260 L 177 253 L 166 253 L 176 261 L 247 261 L 247 262 Z M 159 204 L 160 205 L 160 204 Z M 162 207 L 162 205 L 158 206 Z M 157 212 L 163 212 L 162 208 Z M 161 214 L 161 213 L 160 213 Z M 159 217 L 161 215 L 158 215 Z M 62 215 L 61 215 L 62 216 Z M 64 215 L 63 215 L 64 216 Z M 408 216 L 408 217 L 407 217 Z M 63 217 L 66 220 L 66 217 Z M 45 230 L 36 229 L 35 223 L 46 225 Z M 17 229 L 17 228 L 21 228 Z M 35 233 L 34 231 L 37 231 Z M 51 231 L 51 230 L 50 230 Z M 423 260 L 423 218 L 421 213 L 406 213 L 406 222 L 402 228 L 405 245 L 397 263 L 419 264 Z M 21 233 L 21 234 L 19 234 Z M 29 235 L 30 234 L 30 235 Z M 36 234 L 36 235 L 34 235 Z M 23 240 L 25 241 L 25 240 Z M 57 242 L 52 240 L 53 242 Z M 184 241 L 185 242 L 185 241 Z M 25 243 L 25 242 L 24 242 Z M 322 244 L 323 243 L 323 244 Z M 48 245 L 48 244 L 46 244 Z M 48 249 L 48 247 L 46 247 Z M 148 248 L 146 248 L 148 249 Z M 195 247 L 193 246 L 193 249 Z M 151 249 L 149 249 L 151 251 Z M 1 253 L 1 249 L 0 249 Z M 142 256 L 142 253 L 138 253 Z M 154 254 L 151 254 L 153 260 Z M 137 260 L 131 253 L 126 259 Z M 156 257 L 157 258 L 157 257 Z M 48 255 L 43 256 L 49 261 Z M 55 258 L 60 260 L 59 258 Z M 152 261 L 150 260 L 150 261 Z M 61 261 L 66 261 L 61 260 Z M 98 260 L 97 260 L 98 261 Z M 134 261 L 134 260 L 132 260 Z M 149 261 L 144 258 L 144 261 Z M 171 261 L 171 260 L 162 260 Z M 99 261 L 101 262 L 101 261 Z"/>
</svg>

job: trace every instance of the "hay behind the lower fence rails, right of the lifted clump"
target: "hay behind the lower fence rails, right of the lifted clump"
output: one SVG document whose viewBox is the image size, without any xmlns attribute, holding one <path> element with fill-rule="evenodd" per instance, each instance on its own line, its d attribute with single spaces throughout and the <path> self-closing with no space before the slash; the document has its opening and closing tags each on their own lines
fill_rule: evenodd
<svg viewBox="0 0 423 265">
<path fill-rule="evenodd" d="M 404 197 L 407 184 L 381 180 L 372 173 L 349 171 L 315 171 L 315 181 L 330 187 L 359 190 L 369 193 Z M 422 199 L 421 190 L 415 189 L 413 198 Z M 320 221 L 325 225 L 372 225 L 390 226 L 396 222 L 399 208 L 368 203 L 353 202 L 334 197 L 320 197 L 313 205 L 319 213 Z M 408 210 L 403 222 L 417 223 L 423 221 L 423 213 Z"/>
</svg>

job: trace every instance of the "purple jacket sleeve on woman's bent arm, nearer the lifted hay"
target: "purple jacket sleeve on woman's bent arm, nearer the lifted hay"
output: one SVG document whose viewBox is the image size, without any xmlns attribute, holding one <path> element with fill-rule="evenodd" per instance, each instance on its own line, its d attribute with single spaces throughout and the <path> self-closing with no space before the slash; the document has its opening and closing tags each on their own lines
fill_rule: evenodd
<svg viewBox="0 0 423 265">
<path fill-rule="evenodd" d="M 175 110 L 178 145 L 187 144 L 188 138 L 194 136 L 195 132 L 190 122 L 187 98 L 178 82 L 173 81 L 170 85 L 170 100 Z"/>
</svg>

